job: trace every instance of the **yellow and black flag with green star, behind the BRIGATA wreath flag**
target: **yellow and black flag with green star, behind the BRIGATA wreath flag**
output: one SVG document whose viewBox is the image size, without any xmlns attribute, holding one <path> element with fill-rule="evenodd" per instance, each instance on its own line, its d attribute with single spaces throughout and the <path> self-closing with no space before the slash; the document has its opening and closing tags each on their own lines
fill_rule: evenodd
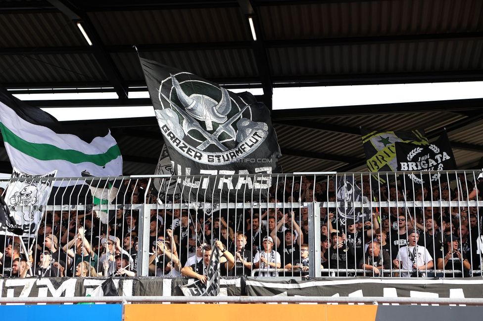
<svg viewBox="0 0 483 321">
<path fill-rule="evenodd" d="M 396 142 L 417 146 L 429 145 L 423 129 L 377 131 L 361 128 L 362 143 L 366 154 L 367 169 L 370 172 L 391 172 L 397 169 Z M 378 179 L 381 184 L 386 183 L 383 176 Z"/>
</svg>

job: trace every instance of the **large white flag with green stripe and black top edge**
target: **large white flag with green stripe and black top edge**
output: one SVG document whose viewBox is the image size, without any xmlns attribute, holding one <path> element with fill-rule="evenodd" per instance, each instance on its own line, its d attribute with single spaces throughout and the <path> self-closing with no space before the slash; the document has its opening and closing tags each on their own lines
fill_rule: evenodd
<svg viewBox="0 0 483 321">
<path fill-rule="evenodd" d="M 42 109 L 13 97 L 0 85 L 0 131 L 12 167 L 57 177 L 122 175 L 122 157 L 108 128 L 63 125 Z"/>
</svg>

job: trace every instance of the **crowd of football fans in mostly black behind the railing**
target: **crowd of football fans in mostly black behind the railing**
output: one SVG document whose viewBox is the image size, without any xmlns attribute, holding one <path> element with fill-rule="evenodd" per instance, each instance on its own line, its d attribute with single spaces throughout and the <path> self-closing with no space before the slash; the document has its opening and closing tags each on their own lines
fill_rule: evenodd
<svg viewBox="0 0 483 321">
<path fill-rule="evenodd" d="M 337 201 L 332 177 L 320 182 L 293 177 L 275 182 L 265 202 L 243 209 L 212 212 L 159 204 L 147 180 L 126 181 L 124 203 L 102 224 L 96 209 L 49 211 L 35 238 L 0 236 L 3 277 L 135 277 L 138 274 L 139 210 L 153 204 L 148 242 L 149 276 L 188 276 L 206 281 L 209 255 L 220 250 L 222 276 L 309 275 L 309 210 L 304 204 Z M 481 275 L 480 210 L 466 206 L 427 206 L 419 201 L 475 200 L 483 178 L 404 189 L 396 181 L 383 186 L 360 176 L 356 184 L 368 201 L 395 201 L 371 207 L 372 215 L 342 218 L 337 207 L 320 207 L 321 276 L 468 277 Z M 454 185 L 454 187 L 453 187 Z M 378 186 L 377 188 L 373 188 Z M 451 189 L 453 187 L 453 189 Z M 407 206 L 406 201 L 415 201 Z M 274 208 L 268 202 L 289 204 Z M 324 203 L 325 202 L 325 203 Z M 449 204 L 449 203 L 448 203 Z M 369 205 L 366 205 L 369 206 Z M 171 207 L 171 209 L 170 209 Z M 357 210 L 355 211 L 357 212 Z M 140 251 L 141 252 L 141 251 Z"/>
</svg>

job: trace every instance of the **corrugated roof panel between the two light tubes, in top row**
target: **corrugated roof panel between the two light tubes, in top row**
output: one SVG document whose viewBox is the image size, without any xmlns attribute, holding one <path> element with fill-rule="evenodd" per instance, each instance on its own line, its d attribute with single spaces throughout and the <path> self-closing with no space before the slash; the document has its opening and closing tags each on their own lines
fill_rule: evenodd
<svg viewBox="0 0 483 321">
<path fill-rule="evenodd" d="M 107 11 L 89 14 L 105 44 L 250 40 L 240 8 Z"/>
</svg>

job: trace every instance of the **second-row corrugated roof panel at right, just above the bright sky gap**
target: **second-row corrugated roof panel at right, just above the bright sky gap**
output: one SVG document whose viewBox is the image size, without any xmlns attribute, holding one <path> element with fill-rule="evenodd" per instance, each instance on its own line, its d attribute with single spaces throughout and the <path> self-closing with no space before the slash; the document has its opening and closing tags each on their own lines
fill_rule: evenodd
<svg viewBox="0 0 483 321">
<path fill-rule="evenodd" d="M 274 76 L 483 69 L 483 40 L 270 48 L 267 52 Z"/>
</svg>

